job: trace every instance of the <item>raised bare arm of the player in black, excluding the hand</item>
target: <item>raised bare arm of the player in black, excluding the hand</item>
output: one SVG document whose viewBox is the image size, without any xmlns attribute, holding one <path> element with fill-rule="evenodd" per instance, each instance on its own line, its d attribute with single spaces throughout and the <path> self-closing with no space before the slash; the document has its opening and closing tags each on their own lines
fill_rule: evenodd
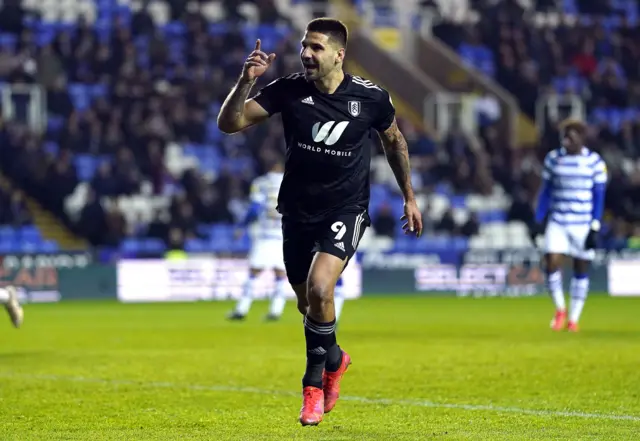
<svg viewBox="0 0 640 441">
<path fill-rule="evenodd" d="M 218 128 L 224 133 L 237 133 L 264 121 L 269 113 L 255 100 L 248 100 L 254 81 L 240 78 L 224 100 L 218 114 Z"/>
</svg>

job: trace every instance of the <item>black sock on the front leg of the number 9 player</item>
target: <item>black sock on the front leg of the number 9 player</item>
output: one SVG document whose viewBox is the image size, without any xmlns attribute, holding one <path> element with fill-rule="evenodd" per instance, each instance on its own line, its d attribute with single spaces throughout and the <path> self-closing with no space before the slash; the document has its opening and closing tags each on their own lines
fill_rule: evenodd
<svg viewBox="0 0 640 441">
<path fill-rule="evenodd" d="M 322 373 L 329 351 L 335 352 L 336 321 L 318 323 L 308 315 L 304 318 L 304 337 L 307 343 L 307 369 L 302 378 L 302 387 L 322 389 Z"/>
</svg>

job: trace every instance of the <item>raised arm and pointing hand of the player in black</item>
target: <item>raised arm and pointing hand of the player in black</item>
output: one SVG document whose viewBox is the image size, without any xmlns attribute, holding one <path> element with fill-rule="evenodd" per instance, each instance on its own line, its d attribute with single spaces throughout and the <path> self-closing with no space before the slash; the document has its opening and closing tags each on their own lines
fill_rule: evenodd
<svg viewBox="0 0 640 441">
<path fill-rule="evenodd" d="M 240 79 L 231 89 L 220 108 L 218 114 L 220 131 L 227 134 L 238 133 L 269 118 L 268 109 L 265 109 L 255 99 L 248 98 L 257 79 L 266 72 L 275 58 L 275 54 L 267 55 L 262 52 L 260 40 L 256 41 L 255 49 L 249 54 L 242 67 Z"/>
</svg>

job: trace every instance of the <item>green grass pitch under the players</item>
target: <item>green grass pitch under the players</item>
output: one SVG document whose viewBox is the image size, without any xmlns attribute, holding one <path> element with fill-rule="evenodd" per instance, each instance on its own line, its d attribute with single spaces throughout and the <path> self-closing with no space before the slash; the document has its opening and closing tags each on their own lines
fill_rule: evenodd
<svg viewBox="0 0 640 441">
<path fill-rule="evenodd" d="M 0 440 L 639 440 L 640 299 L 593 296 L 579 334 L 546 298 L 347 302 L 343 399 L 297 423 L 293 305 L 69 302 L 0 323 Z"/>
</svg>

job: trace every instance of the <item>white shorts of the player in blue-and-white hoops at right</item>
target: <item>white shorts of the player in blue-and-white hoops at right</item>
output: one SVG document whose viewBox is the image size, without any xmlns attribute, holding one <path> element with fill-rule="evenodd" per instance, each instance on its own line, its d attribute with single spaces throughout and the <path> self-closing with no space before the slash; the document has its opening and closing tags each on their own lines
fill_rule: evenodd
<svg viewBox="0 0 640 441">
<path fill-rule="evenodd" d="M 580 260 L 593 260 L 596 257 L 596 251 L 584 249 L 584 242 L 590 229 L 589 224 L 560 225 L 550 221 L 544 232 L 545 252 L 564 254 Z"/>
</svg>

